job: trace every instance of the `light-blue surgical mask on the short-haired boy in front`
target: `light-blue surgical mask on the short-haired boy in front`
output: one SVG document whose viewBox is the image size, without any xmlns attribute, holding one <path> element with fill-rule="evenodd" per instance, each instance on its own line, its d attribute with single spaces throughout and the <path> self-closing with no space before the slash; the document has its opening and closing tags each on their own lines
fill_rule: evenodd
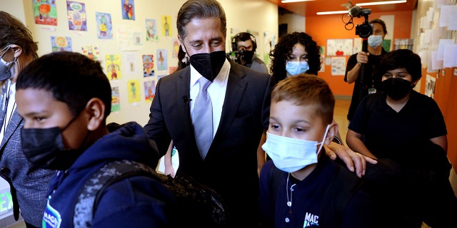
<svg viewBox="0 0 457 228">
<path fill-rule="evenodd" d="M 271 157 L 279 170 L 296 172 L 308 165 L 317 163 L 318 154 L 321 152 L 329 128 L 330 125 L 327 125 L 322 142 L 298 140 L 267 132 L 266 142 L 262 145 L 262 149 Z M 320 146 L 318 147 L 318 145 Z"/>
</svg>

